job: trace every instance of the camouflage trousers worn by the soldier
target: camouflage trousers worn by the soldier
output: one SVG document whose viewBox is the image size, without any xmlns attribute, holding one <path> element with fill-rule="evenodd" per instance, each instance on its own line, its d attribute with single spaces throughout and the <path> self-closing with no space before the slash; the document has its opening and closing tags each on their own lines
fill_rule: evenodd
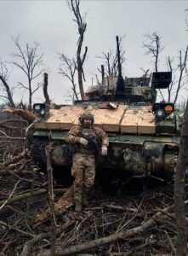
<svg viewBox="0 0 188 256">
<path fill-rule="evenodd" d="M 76 153 L 73 155 L 71 175 L 74 177 L 74 201 L 82 203 L 94 186 L 95 157 L 94 155 Z"/>
</svg>

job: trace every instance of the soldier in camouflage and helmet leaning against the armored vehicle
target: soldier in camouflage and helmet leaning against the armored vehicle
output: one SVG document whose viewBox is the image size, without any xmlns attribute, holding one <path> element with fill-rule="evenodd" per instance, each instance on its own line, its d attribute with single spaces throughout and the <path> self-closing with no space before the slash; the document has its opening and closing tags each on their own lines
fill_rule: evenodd
<svg viewBox="0 0 188 256">
<path fill-rule="evenodd" d="M 66 143 L 71 143 L 74 150 L 71 175 L 74 177 L 75 211 L 81 212 L 88 205 L 88 193 L 94 186 L 95 154 L 99 151 L 98 141 L 101 140 L 101 154 L 107 155 L 109 139 L 105 131 L 94 127 L 94 115 L 83 112 L 79 117 L 79 125 L 74 125 L 66 134 Z"/>
</svg>

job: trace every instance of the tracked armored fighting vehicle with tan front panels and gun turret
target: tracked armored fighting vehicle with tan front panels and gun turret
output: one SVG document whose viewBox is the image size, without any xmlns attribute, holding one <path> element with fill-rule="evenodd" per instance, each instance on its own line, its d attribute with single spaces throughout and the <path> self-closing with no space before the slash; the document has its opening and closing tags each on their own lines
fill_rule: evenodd
<svg viewBox="0 0 188 256">
<path fill-rule="evenodd" d="M 174 172 L 181 117 L 173 103 L 156 102 L 157 90 L 168 88 L 172 73 L 122 78 L 119 57 L 118 64 L 118 76 L 88 87 L 83 101 L 59 109 L 34 104 L 38 118 L 27 129 L 27 137 L 39 166 L 45 166 L 49 140 L 53 141 L 53 166 L 71 166 L 71 150 L 64 137 L 72 125 L 78 124 L 80 114 L 89 109 L 94 114 L 94 125 L 110 139 L 108 155 L 98 155 L 98 166 L 121 172 L 122 177 L 127 173 L 158 176 Z"/>
</svg>

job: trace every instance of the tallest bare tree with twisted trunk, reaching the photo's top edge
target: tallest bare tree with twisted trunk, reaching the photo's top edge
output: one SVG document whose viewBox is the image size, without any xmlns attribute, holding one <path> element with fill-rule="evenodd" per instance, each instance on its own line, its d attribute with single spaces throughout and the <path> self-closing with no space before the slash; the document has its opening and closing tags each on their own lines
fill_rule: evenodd
<svg viewBox="0 0 188 256">
<path fill-rule="evenodd" d="M 75 19 L 73 19 L 77 23 L 77 30 L 79 33 L 79 38 L 77 41 L 77 74 L 78 74 L 78 84 L 80 89 L 80 94 L 82 100 L 84 99 L 84 90 L 83 90 L 83 80 L 84 73 L 83 73 L 83 63 L 85 61 L 88 47 L 85 47 L 85 52 L 83 54 L 83 57 L 81 57 L 81 51 L 83 46 L 83 36 L 84 32 L 86 31 L 87 23 L 85 22 L 83 16 L 80 14 L 80 1 L 79 0 L 71 0 L 69 3 L 69 7 L 71 11 L 73 12 Z"/>
</svg>

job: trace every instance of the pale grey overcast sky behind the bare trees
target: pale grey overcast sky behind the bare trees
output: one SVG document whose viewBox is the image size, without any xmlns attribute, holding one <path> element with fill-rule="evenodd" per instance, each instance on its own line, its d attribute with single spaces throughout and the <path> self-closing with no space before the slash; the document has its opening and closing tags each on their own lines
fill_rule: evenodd
<svg viewBox="0 0 188 256">
<path fill-rule="evenodd" d="M 159 63 L 159 71 L 167 70 L 165 57 L 177 55 L 179 49 L 188 44 L 185 18 L 188 16 L 187 1 L 82 1 L 81 13 L 86 15 L 87 31 L 83 49 L 88 46 L 88 57 L 84 64 L 86 84 L 100 67 L 101 52 L 116 49 L 116 35 L 125 35 L 123 48 L 126 49 L 126 65 L 123 75 L 142 75 L 140 67 L 153 70 L 151 57 L 145 55 L 142 47 L 143 34 L 157 32 L 165 47 Z M 77 26 L 66 1 L 3 1 L 0 0 L 0 58 L 11 61 L 16 49 L 11 37 L 20 35 L 20 44 L 40 44 L 38 53 L 44 53 L 44 64 L 48 72 L 48 90 L 54 102 L 65 102 L 71 84 L 58 73 L 58 53 L 73 57 L 77 49 Z M 16 85 L 24 77 L 15 67 L 11 70 L 9 84 Z M 39 78 L 43 81 L 43 75 Z M 36 81 L 37 84 L 37 81 Z M 25 92 L 27 93 L 27 92 Z M 14 100 L 26 98 L 23 91 L 14 93 Z M 0 100 L 1 101 L 1 100 Z M 34 101 L 43 101 L 42 90 L 36 93 Z"/>
</svg>

